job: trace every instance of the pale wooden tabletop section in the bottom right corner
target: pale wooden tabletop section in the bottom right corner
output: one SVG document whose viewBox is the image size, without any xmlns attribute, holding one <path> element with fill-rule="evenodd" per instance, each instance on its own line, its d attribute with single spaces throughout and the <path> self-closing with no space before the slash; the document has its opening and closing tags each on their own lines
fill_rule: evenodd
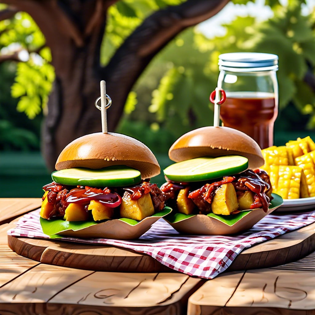
<svg viewBox="0 0 315 315">
<path fill-rule="evenodd" d="M 207 281 L 188 300 L 188 315 L 314 315 L 313 272 L 262 269 Z"/>
</svg>

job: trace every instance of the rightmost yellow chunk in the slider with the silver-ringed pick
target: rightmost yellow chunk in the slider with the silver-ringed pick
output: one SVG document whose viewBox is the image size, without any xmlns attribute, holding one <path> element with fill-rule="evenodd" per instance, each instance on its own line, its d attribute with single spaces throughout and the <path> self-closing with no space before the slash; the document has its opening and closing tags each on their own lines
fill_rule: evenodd
<svg viewBox="0 0 315 315">
<path fill-rule="evenodd" d="M 129 192 L 123 194 L 120 205 L 120 216 L 122 218 L 141 221 L 154 214 L 154 207 L 149 193 L 142 195 L 137 200 L 132 200 Z"/>
</svg>

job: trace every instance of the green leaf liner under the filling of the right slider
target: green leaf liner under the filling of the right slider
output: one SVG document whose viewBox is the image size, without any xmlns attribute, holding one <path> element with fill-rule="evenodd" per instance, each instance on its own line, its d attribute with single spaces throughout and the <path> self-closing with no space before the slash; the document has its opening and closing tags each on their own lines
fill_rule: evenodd
<svg viewBox="0 0 315 315">
<path fill-rule="evenodd" d="M 272 193 L 272 197 L 273 199 L 271 201 L 269 209 L 279 207 L 283 204 L 283 199 L 279 195 Z M 207 216 L 214 218 L 218 221 L 221 221 L 228 226 L 232 226 L 252 211 L 255 211 L 255 210 L 244 210 L 236 215 L 216 215 L 214 213 L 208 213 Z M 166 216 L 165 219 L 169 221 L 170 223 L 177 223 L 183 220 L 187 220 L 193 216 L 195 215 L 185 215 L 183 213 L 175 213 L 175 214 L 169 214 L 168 216 Z"/>
</svg>

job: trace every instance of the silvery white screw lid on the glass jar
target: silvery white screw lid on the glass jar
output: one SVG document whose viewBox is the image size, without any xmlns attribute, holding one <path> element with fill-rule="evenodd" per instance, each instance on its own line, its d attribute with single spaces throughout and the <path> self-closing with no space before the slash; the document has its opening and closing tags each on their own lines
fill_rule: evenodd
<svg viewBox="0 0 315 315">
<path fill-rule="evenodd" d="M 228 53 L 219 55 L 219 70 L 234 72 L 278 70 L 278 55 Z"/>
</svg>

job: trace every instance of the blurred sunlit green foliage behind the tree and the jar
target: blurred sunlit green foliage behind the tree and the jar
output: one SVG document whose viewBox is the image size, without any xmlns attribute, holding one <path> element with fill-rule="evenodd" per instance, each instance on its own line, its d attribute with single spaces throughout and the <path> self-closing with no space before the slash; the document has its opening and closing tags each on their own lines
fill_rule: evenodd
<svg viewBox="0 0 315 315">
<path fill-rule="evenodd" d="M 154 10 L 180 2 L 124 0 L 113 5 L 108 12 L 101 61 L 105 64 Z M 246 15 L 246 7 L 240 7 L 249 1 L 232 2 L 237 7 L 229 5 L 229 12 L 241 8 L 245 15 L 224 23 L 223 35 L 215 36 L 215 30 L 207 30 L 206 24 L 184 31 L 155 57 L 129 94 L 117 131 L 144 142 L 162 167 L 170 163 L 167 151 L 176 138 L 188 130 L 212 125 L 209 94 L 216 86 L 221 53 L 278 54 L 280 111 L 275 123 L 275 144 L 282 145 L 297 136 L 315 136 L 315 94 L 305 83 L 307 72 L 314 75 L 313 3 L 266 0 L 270 14 L 261 20 Z M 2 32 L 5 28 L 9 31 Z M 0 65 L 1 197 L 38 197 L 40 185 L 49 180 L 38 153 L 41 121 L 54 81 L 50 51 L 44 43 L 41 31 L 26 13 L 0 22 L 0 53 L 19 47 L 19 57 L 24 60 Z M 107 93 L 110 95 L 110 91 Z M 93 103 L 91 100 L 91 106 Z M 26 191 L 14 188 L 25 185 L 26 180 Z M 160 176 L 157 182 L 162 181 Z M 32 188 L 35 186 L 39 188 Z"/>
</svg>

